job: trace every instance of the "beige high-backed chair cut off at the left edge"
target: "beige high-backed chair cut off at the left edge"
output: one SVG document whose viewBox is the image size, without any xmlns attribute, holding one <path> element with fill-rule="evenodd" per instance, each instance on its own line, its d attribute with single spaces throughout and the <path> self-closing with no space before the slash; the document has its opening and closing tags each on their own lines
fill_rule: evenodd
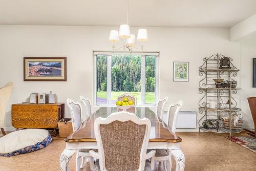
<svg viewBox="0 0 256 171">
<path fill-rule="evenodd" d="M 12 93 L 12 89 L 12 82 L 8 82 L 3 88 L 0 88 L 0 128 L 4 136 L 6 135 L 4 130 L 5 113 Z"/>
</svg>

